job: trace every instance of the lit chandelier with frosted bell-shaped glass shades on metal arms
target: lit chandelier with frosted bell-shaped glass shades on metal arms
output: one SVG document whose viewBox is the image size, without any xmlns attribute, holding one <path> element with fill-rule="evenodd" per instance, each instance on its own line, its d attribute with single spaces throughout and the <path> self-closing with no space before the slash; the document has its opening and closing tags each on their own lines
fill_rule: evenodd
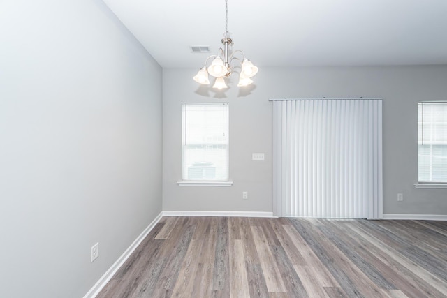
<svg viewBox="0 0 447 298">
<path fill-rule="evenodd" d="M 245 58 L 244 52 L 241 50 L 233 52 L 231 50 L 231 47 L 233 47 L 233 40 L 230 38 L 230 33 L 228 32 L 228 0 L 225 0 L 225 33 L 223 33 L 221 43 L 223 44 L 223 49 L 219 48 L 217 55 L 207 57 L 205 64 L 203 64 L 203 67 L 200 68 L 193 79 L 200 84 L 207 85 L 210 84 L 208 75 L 212 75 L 213 77 L 216 77 L 214 85 L 212 86 L 213 88 L 227 88 L 224 77 L 229 77 L 233 73 L 235 68 L 234 62 L 238 61 L 240 63 L 240 75 L 237 86 L 242 87 L 251 84 L 253 82 L 251 77 L 258 73 L 258 68 L 254 66 L 249 59 Z M 242 59 L 235 57 L 235 54 L 242 54 Z M 210 61 L 211 58 L 214 59 L 210 66 L 207 66 L 208 61 Z"/>
</svg>

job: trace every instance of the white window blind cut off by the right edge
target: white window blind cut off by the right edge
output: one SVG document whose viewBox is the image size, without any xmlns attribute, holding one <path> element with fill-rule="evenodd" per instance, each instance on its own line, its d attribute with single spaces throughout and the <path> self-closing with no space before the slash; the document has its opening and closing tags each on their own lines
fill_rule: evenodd
<svg viewBox="0 0 447 298">
<path fill-rule="evenodd" d="M 447 183 L 447 102 L 418 103 L 418 180 Z"/>
</svg>

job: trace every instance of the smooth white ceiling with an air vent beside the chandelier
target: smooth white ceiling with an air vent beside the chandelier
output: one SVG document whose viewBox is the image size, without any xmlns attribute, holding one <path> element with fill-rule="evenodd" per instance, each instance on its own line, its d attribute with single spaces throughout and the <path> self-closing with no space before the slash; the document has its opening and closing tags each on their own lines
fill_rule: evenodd
<svg viewBox="0 0 447 298">
<path fill-rule="evenodd" d="M 163 68 L 222 46 L 224 0 L 103 1 Z M 228 0 L 228 31 L 257 66 L 447 64 L 446 0 Z"/>
</svg>

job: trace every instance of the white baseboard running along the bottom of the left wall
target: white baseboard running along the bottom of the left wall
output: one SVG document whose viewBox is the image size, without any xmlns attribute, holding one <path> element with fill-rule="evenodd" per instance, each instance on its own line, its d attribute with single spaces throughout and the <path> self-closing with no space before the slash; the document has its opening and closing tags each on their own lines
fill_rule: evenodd
<svg viewBox="0 0 447 298">
<path fill-rule="evenodd" d="M 124 253 L 118 258 L 118 260 L 108 269 L 108 271 L 105 272 L 101 278 L 95 283 L 95 285 L 87 292 L 87 294 L 84 296 L 84 298 L 94 298 L 98 293 L 104 288 L 104 286 L 110 281 L 110 278 L 118 271 L 119 267 L 122 267 L 124 262 L 131 256 L 133 251 L 135 251 L 135 248 L 140 245 L 140 243 L 145 239 L 147 234 L 155 227 L 157 223 L 159 223 L 161 217 L 163 216 L 163 212 L 160 212 L 158 216 L 152 221 L 152 223 L 149 223 L 147 228 L 145 228 L 144 231 L 133 241 L 131 246 L 124 251 Z"/>
</svg>

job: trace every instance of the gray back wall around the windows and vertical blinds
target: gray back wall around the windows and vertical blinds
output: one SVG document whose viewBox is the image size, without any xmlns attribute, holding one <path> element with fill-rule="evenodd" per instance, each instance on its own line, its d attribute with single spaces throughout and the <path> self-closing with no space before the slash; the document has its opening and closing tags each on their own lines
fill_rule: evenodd
<svg viewBox="0 0 447 298">
<path fill-rule="evenodd" d="M 256 61 L 255 61 L 256 62 Z M 199 66 L 198 66 L 199 67 Z M 417 103 L 447 100 L 447 66 L 268 68 L 244 90 L 216 93 L 192 80 L 198 69 L 163 70 L 163 210 L 272 211 L 269 98 L 383 98 L 383 211 L 447 214 L 446 189 L 416 189 Z M 181 103 L 230 103 L 229 188 L 177 186 L 182 178 Z M 264 152 L 265 161 L 251 161 Z M 242 191 L 249 200 L 242 200 Z M 397 202 L 397 193 L 404 201 Z"/>
</svg>

